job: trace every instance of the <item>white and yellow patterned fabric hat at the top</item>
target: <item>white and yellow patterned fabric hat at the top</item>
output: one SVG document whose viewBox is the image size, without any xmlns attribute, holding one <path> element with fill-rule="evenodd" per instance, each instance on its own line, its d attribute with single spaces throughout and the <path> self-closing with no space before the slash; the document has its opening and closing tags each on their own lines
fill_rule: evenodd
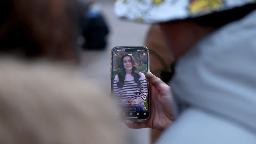
<svg viewBox="0 0 256 144">
<path fill-rule="evenodd" d="M 256 0 L 116 0 L 118 17 L 139 22 L 167 22 L 195 18 L 256 3 Z"/>
</svg>

